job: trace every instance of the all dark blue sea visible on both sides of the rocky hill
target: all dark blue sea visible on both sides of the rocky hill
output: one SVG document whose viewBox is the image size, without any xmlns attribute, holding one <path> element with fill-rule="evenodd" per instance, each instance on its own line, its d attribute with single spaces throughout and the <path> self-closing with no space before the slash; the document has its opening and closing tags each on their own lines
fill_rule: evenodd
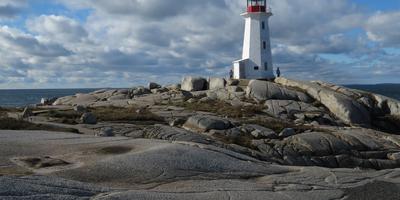
<svg viewBox="0 0 400 200">
<path fill-rule="evenodd" d="M 400 84 L 346 85 L 346 87 L 382 94 L 400 100 Z M 95 90 L 99 89 L 0 90 L 0 107 L 24 107 L 40 103 L 42 98 L 90 93 Z"/>
</svg>

